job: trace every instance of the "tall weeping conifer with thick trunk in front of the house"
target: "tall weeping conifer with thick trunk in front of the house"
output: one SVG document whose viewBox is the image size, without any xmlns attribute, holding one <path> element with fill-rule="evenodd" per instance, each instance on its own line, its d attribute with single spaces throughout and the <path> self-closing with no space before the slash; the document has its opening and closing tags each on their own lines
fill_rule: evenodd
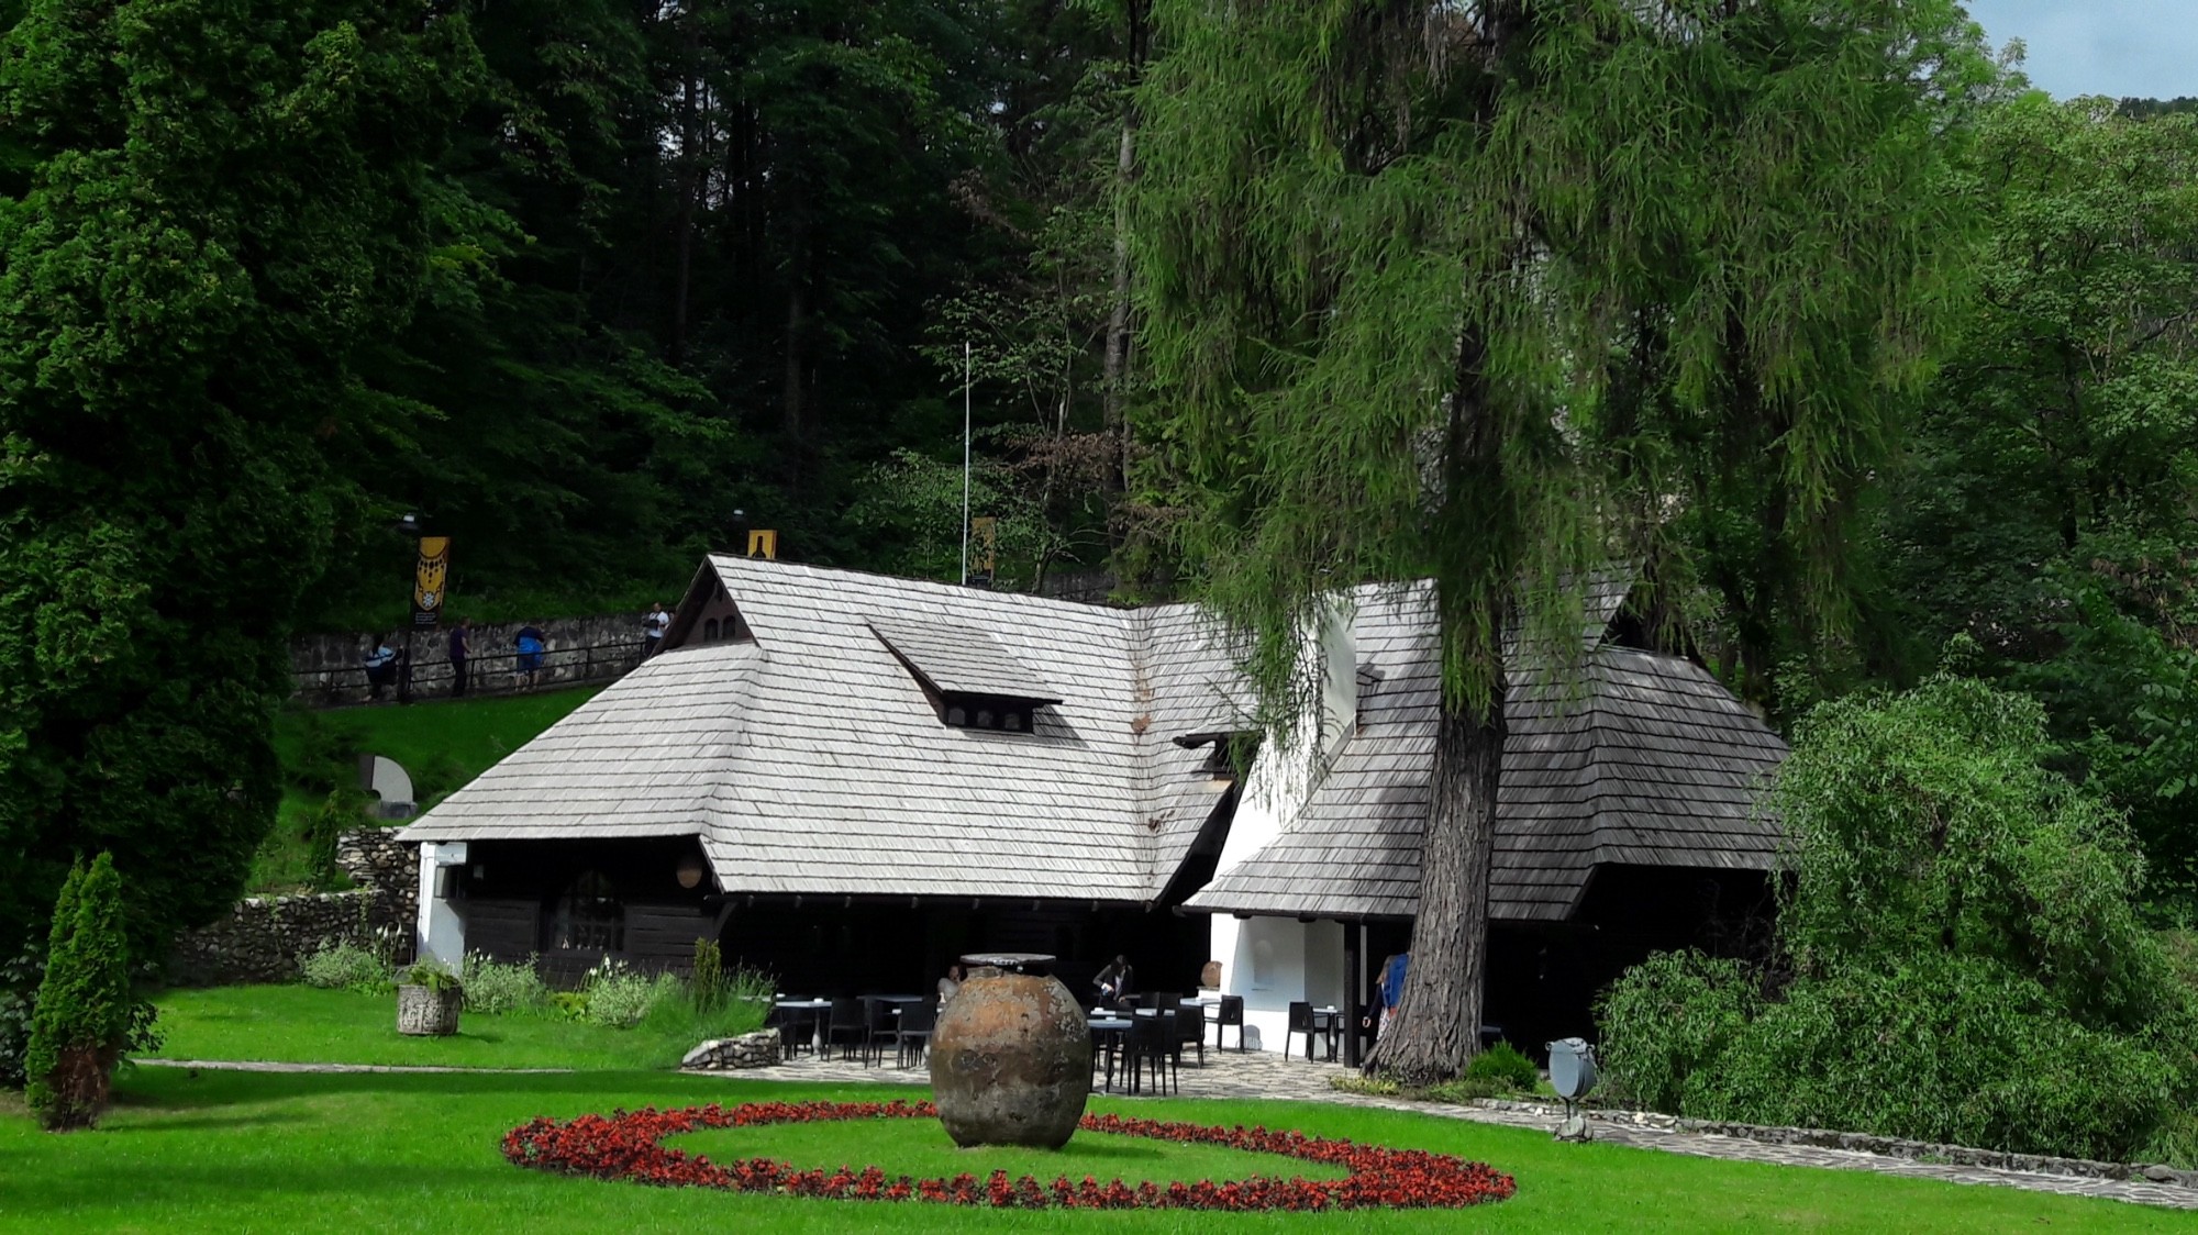
<svg viewBox="0 0 2198 1235">
<path fill-rule="evenodd" d="M 1167 0 L 1156 24 L 1130 202 L 1150 437 L 1279 738 L 1314 714 L 1306 631 L 1339 587 L 1431 580 L 1420 908 L 1376 1066 L 1442 1079 L 1481 1022 L 1506 648 L 1565 679 L 1572 580 L 1664 545 L 1732 442 L 1774 446 L 1774 536 L 1838 609 L 1846 497 L 1958 264 L 1941 158 L 1989 66 L 1943 0 Z"/>
</svg>

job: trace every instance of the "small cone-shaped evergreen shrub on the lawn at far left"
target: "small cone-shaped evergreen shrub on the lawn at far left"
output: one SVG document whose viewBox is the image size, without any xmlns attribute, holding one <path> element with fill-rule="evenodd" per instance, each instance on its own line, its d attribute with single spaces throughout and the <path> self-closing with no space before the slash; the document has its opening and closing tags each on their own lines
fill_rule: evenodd
<svg viewBox="0 0 2198 1235">
<path fill-rule="evenodd" d="M 101 853 L 90 868 L 68 872 L 53 905 L 24 1053 L 24 1101 L 42 1127 L 70 1132 L 99 1119 L 130 1044 L 132 1011 L 121 875 Z"/>
</svg>

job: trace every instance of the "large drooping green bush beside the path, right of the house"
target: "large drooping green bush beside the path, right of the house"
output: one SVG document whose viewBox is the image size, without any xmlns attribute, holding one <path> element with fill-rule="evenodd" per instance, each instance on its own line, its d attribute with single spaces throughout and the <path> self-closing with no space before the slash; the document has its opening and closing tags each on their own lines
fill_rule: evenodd
<svg viewBox="0 0 2198 1235">
<path fill-rule="evenodd" d="M 2139 919 L 2128 828 L 2051 754 L 2035 701 L 1974 679 L 1816 708 L 1772 795 L 1794 842 L 1780 956 L 1620 978 L 1613 1092 L 2029 1154 L 2172 1149 L 2198 1004 Z"/>
</svg>

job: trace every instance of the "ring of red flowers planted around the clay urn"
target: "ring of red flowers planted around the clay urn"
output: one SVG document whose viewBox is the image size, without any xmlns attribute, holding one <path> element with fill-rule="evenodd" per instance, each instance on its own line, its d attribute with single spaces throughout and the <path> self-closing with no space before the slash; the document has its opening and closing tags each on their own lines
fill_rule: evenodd
<svg viewBox="0 0 2198 1235">
<path fill-rule="evenodd" d="M 701 1154 L 666 1149 L 666 1136 L 706 1127 L 763 1127 L 769 1123 L 826 1123 L 853 1119 L 936 1119 L 932 1103 L 745 1103 L 734 1108 L 690 1105 L 681 1110 L 635 1110 L 582 1114 L 556 1121 L 539 1116 L 503 1136 L 503 1156 L 521 1167 L 563 1171 L 598 1180 L 635 1180 L 659 1187 L 703 1187 L 833 1200 L 928 1200 L 939 1204 L 989 1204 L 996 1209 L 1457 1209 L 1503 1200 L 1517 1191 L 1510 1176 L 1486 1162 L 1466 1162 L 1422 1149 L 1383 1149 L 1350 1141 L 1321 1141 L 1301 1132 L 1266 1127 L 1200 1127 L 1158 1119 L 1086 1114 L 1086 1132 L 1145 1136 L 1185 1145 L 1222 1145 L 1253 1154 L 1281 1154 L 1301 1162 L 1350 1169 L 1341 1180 L 1253 1176 L 1231 1182 L 1136 1184 L 1099 1182 L 1090 1176 L 1009 1178 L 993 1171 L 952 1180 L 888 1178 L 877 1167 L 859 1171 L 800 1169 L 774 1158 L 712 1162 Z"/>
</svg>

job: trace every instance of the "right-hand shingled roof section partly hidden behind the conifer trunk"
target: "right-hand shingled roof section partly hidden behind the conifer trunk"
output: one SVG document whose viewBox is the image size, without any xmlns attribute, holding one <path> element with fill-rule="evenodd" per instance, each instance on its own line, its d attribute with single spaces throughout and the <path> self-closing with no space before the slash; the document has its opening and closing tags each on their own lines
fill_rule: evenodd
<svg viewBox="0 0 2198 1235">
<path fill-rule="evenodd" d="M 1433 765 L 1435 626 L 1422 589 L 1361 589 L 1361 727 L 1284 833 L 1189 908 L 1334 919 L 1411 916 Z M 1767 870 L 1776 828 L 1754 813 L 1785 743 L 1703 668 L 1602 642 L 1620 580 L 1589 596 L 1578 697 L 1510 690 L 1490 912 L 1572 916 L 1600 864 Z"/>
</svg>

